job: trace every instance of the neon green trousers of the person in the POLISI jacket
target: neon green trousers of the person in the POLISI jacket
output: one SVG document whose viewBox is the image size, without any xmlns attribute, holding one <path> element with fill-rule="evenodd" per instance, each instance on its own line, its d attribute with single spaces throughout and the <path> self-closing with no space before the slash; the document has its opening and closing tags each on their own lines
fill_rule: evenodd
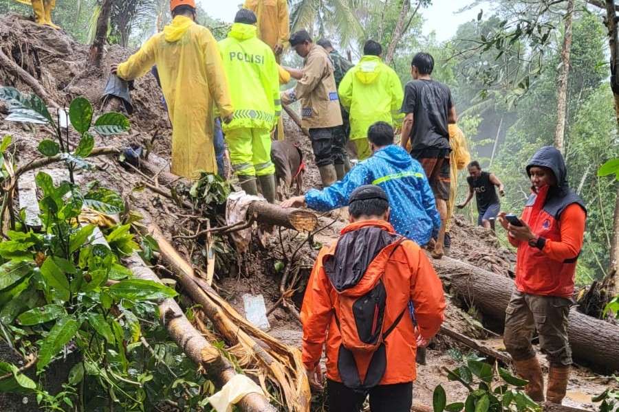
<svg viewBox="0 0 619 412">
<path fill-rule="evenodd" d="M 275 173 L 271 161 L 271 133 L 268 129 L 237 128 L 226 131 L 230 163 L 236 174 L 266 176 Z"/>
</svg>

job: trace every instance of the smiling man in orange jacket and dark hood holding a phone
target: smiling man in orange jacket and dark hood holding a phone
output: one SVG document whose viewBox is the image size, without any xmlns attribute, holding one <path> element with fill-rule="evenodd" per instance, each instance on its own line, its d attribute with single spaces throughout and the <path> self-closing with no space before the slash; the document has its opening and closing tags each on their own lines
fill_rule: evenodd
<svg viewBox="0 0 619 412">
<path fill-rule="evenodd" d="M 529 384 L 530 398 L 544 400 L 544 381 L 531 345 L 539 333 L 541 350 L 550 362 L 546 400 L 561 404 L 567 390 L 572 350 L 567 318 L 574 294 L 576 261 L 583 247 L 587 209 L 567 183 L 561 152 L 541 148 L 527 166 L 533 194 L 517 225 L 505 213 L 499 222 L 518 248 L 516 288 L 506 310 L 505 347 L 517 372 Z M 513 220 L 513 219 L 512 219 Z"/>
</svg>

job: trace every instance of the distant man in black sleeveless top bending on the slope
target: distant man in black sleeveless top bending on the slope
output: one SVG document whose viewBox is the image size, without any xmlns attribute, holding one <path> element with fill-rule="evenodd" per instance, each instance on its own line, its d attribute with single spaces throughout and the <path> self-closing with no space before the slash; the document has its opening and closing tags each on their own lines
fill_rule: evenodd
<svg viewBox="0 0 619 412">
<path fill-rule="evenodd" d="M 499 211 L 501 211 L 497 187 L 499 187 L 499 194 L 502 197 L 505 196 L 505 186 L 494 174 L 483 172 L 478 161 L 470 162 L 468 174 L 470 174 L 466 178 L 468 182 L 468 198 L 466 198 L 464 203 L 458 205 L 458 209 L 464 209 L 470 202 L 470 199 L 473 198 L 473 194 L 475 194 L 477 212 L 479 213 L 477 225 L 495 230 L 495 221 Z"/>
</svg>

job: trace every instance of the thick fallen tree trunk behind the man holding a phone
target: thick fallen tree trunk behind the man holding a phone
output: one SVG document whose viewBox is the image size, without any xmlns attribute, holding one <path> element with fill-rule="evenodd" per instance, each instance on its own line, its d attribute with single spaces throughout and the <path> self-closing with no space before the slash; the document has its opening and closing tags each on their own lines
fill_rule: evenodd
<svg viewBox="0 0 619 412">
<path fill-rule="evenodd" d="M 514 281 L 459 260 L 433 260 L 439 276 L 456 295 L 485 315 L 505 321 Z M 602 371 L 619 370 L 619 327 L 576 311 L 569 313 L 569 344 L 580 361 Z"/>
</svg>

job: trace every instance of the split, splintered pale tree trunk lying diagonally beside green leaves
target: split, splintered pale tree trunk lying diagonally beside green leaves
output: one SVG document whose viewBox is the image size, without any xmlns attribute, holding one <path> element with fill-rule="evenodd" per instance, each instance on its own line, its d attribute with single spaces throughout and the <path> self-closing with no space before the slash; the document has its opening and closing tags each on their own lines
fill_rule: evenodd
<svg viewBox="0 0 619 412">
<path fill-rule="evenodd" d="M 221 299 L 204 279 L 195 275 L 192 266 L 169 244 L 157 225 L 149 225 L 147 232 L 158 242 L 162 260 L 178 275 L 186 293 L 202 306 L 202 312 L 224 339 L 230 345 L 240 345 L 243 352 L 254 358 L 264 371 L 268 371 L 272 381 L 279 386 L 286 410 L 309 411 L 310 384 L 301 361 L 301 352 L 265 334 Z M 264 376 L 261 377 L 261 384 L 265 386 Z"/>
</svg>

